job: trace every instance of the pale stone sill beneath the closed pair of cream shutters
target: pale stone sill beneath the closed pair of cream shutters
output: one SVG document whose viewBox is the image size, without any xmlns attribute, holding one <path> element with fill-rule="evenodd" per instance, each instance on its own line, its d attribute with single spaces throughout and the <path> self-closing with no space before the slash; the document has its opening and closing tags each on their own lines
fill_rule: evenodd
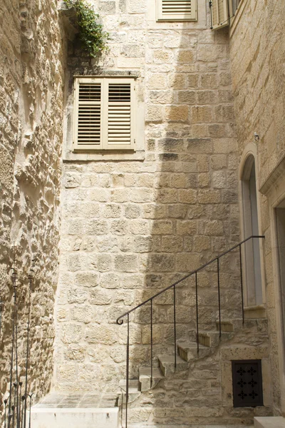
<svg viewBox="0 0 285 428">
<path fill-rule="evenodd" d="M 106 152 L 106 153 L 79 153 L 73 151 L 66 151 L 63 154 L 63 162 L 74 162 L 74 161 L 144 161 L 145 151 L 135 152 Z"/>
</svg>

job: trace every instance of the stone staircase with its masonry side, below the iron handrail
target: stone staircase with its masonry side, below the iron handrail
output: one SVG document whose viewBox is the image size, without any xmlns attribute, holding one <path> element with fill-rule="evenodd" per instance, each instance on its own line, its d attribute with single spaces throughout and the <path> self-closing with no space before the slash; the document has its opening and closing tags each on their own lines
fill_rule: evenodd
<svg viewBox="0 0 285 428">
<path fill-rule="evenodd" d="M 260 348 L 261 354 L 268 353 L 267 320 L 264 318 L 222 320 L 221 337 L 219 322 L 217 330 L 200 331 L 199 352 L 195 335 L 189 340 L 177 340 L 177 359 L 171 354 L 157 355 L 153 367 L 151 384 L 150 367 L 140 367 L 138 379 L 129 381 L 128 427 L 168 426 L 193 424 L 252 425 L 255 415 L 267 416 L 271 409 L 265 407 L 234 409 L 229 390 L 223 398 L 225 385 L 222 371 L 231 367 L 223 360 L 222 353 L 246 355 L 254 360 Z M 250 357 L 252 355 L 252 357 Z M 230 377 L 232 373 L 230 372 Z M 226 382 L 231 382 L 227 379 Z M 120 426 L 125 427 L 126 381 L 120 381 Z M 266 404 L 266 403 L 264 403 Z"/>
</svg>

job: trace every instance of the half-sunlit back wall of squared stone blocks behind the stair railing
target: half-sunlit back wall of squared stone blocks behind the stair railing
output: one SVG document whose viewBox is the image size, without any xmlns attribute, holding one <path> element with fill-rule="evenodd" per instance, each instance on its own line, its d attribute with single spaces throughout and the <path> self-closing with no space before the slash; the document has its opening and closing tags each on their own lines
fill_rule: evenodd
<svg viewBox="0 0 285 428">
<path fill-rule="evenodd" d="M 116 391 L 126 343 L 116 317 L 239 240 L 238 159 L 227 31 L 209 30 L 204 4 L 196 24 L 156 23 L 146 1 L 93 4 L 110 53 L 97 63 L 70 49 L 67 111 L 73 74 L 139 72 L 145 160 L 63 163 L 56 388 Z M 237 255 L 222 266 L 223 316 L 241 315 L 237 266 Z M 198 275 L 201 327 L 217 317 L 216 269 Z M 177 338 L 195 329 L 194 286 L 177 291 Z M 173 349 L 171 302 L 171 292 L 155 302 L 156 353 Z M 149 307 L 131 317 L 132 377 L 150 360 L 148 322 Z"/>
</svg>

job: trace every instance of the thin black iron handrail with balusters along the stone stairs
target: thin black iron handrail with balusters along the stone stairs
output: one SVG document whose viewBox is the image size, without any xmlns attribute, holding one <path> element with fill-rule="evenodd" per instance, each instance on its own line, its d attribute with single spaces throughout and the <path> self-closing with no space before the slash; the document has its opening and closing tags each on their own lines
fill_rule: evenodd
<svg viewBox="0 0 285 428">
<path fill-rule="evenodd" d="M 123 318 L 127 317 L 127 361 L 126 361 L 126 385 L 125 385 L 125 428 L 128 428 L 128 398 L 129 398 L 129 368 L 130 368 L 130 313 L 134 312 L 135 310 L 138 310 L 140 307 L 146 305 L 148 302 L 150 302 L 150 385 L 152 386 L 152 380 L 153 380 L 153 335 L 152 335 L 152 302 L 155 300 L 158 296 L 165 293 L 167 290 L 173 289 L 173 327 L 174 327 L 174 361 L 175 361 L 175 367 L 177 365 L 177 337 L 176 337 L 176 286 L 180 285 L 181 282 L 184 280 L 187 280 L 187 278 L 191 277 L 192 275 L 195 275 L 195 306 L 196 306 L 196 337 L 197 337 L 197 352 L 199 353 L 199 304 L 198 304 L 198 278 L 197 278 L 197 272 L 204 269 L 204 267 L 207 267 L 211 265 L 214 262 L 217 262 L 217 289 L 218 289 L 218 308 L 219 308 L 219 337 L 222 336 L 222 317 L 221 317 L 221 292 L 220 292 L 220 267 L 219 267 L 219 260 L 226 254 L 231 253 L 233 250 L 236 250 L 239 248 L 239 271 L 240 271 L 240 285 L 241 285 L 241 308 L 242 308 L 242 322 L 244 323 L 244 290 L 243 290 L 243 282 L 242 282 L 242 245 L 244 243 L 247 243 L 249 240 L 253 239 L 261 239 L 265 238 L 264 235 L 252 235 L 249 236 L 249 238 L 243 240 L 242 242 L 238 243 L 237 245 L 234 245 L 234 247 L 229 248 L 229 250 L 224 251 L 224 253 L 218 255 L 217 257 L 213 258 L 212 260 L 209 260 L 209 262 L 205 263 L 204 265 L 200 266 L 196 270 L 192 270 L 192 272 L 188 273 L 184 277 L 182 277 L 180 280 L 177 280 L 173 284 L 169 285 L 168 287 L 164 288 L 163 290 L 157 292 L 152 297 L 149 297 L 144 302 L 140 303 L 140 305 L 133 307 L 128 312 L 125 312 L 123 315 L 120 315 L 120 317 L 117 318 L 116 322 L 118 325 L 122 325 L 124 320 Z"/>
</svg>

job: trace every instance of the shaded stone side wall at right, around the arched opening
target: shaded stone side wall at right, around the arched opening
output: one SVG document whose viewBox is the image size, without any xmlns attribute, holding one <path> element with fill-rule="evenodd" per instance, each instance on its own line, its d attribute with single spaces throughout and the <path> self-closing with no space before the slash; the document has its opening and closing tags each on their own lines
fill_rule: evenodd
<svg viewBox="0 0 285 428">
<path fill-rule="evenodd" d="M 285 154 L 284 143 L 284 2 L 247 0 L 231 33 L 230 55 L 239 153 L 259 134 L 259 187 Z M 250 23 L 250 24 L 249 24 Z M 261 232 L 265 235 L 266 307 L 271 339 L 275 411 L 280 412 L 278 343 L 274 293 L 271 208 L 260 195 Z"/>
</svg>

